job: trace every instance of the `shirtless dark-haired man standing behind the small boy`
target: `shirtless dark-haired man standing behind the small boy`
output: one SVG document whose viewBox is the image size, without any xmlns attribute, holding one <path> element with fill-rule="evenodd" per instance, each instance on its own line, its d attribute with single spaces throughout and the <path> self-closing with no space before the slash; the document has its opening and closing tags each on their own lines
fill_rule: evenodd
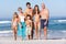
<svg viewBox="0 0 66 44">
<path fill-rule="evenodd" d="M 26 16 L 28 14 L 31 15 L 31 19 L 33 18 L 33 9 L 31 8 L 31 3 L 30 2 L 26 2 L 26 10 L 24 11 L 24 15 Z M 33 38 L 33 22 L 32 22 L 32 33 L 31 33 L 31 36 Z"/>
</svg>

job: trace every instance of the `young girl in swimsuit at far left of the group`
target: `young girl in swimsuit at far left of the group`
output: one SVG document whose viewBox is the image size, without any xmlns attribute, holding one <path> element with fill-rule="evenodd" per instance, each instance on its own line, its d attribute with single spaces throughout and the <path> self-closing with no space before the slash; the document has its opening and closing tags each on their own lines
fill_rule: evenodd
<svg viewBox="0 0 66 44">
<path fill-rule="evenodd" d="M 19 15 L 16 12 L 14 12 L 13 19 L 12 19 L 12 29 L 13 29 L 14 40 L 16 40 L 18 21 L 19 21 Z"/>
</svg>

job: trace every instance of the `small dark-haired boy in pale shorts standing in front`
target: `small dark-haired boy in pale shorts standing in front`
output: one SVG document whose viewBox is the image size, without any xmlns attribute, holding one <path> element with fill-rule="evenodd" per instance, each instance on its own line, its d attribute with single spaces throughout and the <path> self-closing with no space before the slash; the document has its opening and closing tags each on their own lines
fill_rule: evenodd
<svg viewBox="0 0 66 44">
<path fill-rule="evenodd" d="M 32 31 L 32 20 L 31 20 L 31 15 L 26 15 L 26 36 L 29 40 L 31 40 L 31 31 Z"/>
</svg>

